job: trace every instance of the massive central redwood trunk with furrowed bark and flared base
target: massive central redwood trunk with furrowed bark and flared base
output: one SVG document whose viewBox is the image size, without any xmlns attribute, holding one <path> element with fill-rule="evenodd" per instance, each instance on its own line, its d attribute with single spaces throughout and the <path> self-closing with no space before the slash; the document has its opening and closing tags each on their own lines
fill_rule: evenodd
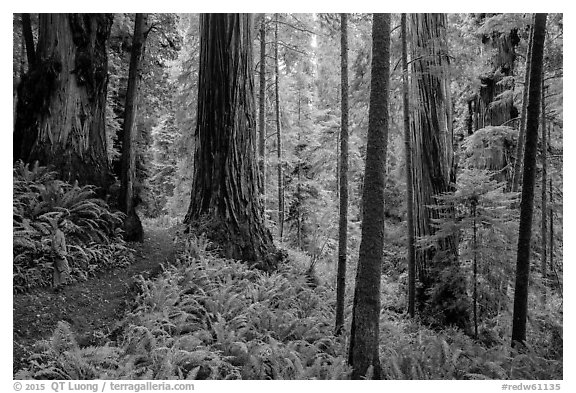
<svg viewBox="0 0 576 393">
<path fill-rule="evenodd" d="M 194 182 L 185 223 L 200 226 L 225 257 L 271 270 L 279 256 L 258 198 L 255 128 L 251 15 L 202 14 Z"/>
</svg>

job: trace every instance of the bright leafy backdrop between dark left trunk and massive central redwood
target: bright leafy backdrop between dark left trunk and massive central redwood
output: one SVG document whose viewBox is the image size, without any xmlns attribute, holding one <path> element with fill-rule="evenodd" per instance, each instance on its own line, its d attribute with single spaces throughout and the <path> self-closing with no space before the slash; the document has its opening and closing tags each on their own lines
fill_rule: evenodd
<svg viewBox="0 0 576 393">
<path fill-rule="evenodd" d="M 182 218 L 188 209 L 194 155 L 194 133 L 198 82 L 198 15 L 183 14 L 172 21 L 173 34 L 182 42 L 177 59 L 166 62 L 168 105 L 156 117 L 151 131 L 150 178 L 145 185 L 147 214 Z M 180 45 L 180 44 L 179 44 Z M 152 85 L 152 88 L 155 85 Z M 155 90 L 153 91 L 155 94 Z M 163 90 L 164 93 L 164 90 Z"/>
</svg>

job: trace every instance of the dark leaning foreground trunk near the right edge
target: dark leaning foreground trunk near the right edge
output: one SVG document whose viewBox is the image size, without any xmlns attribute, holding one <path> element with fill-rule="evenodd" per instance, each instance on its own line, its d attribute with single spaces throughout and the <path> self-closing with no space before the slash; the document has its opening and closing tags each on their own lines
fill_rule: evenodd
<svg viewBox="0 0 576 393">
<path fill-rule="evenodd" d="M 526 341 L 526 317 L 528 314 L 528 282 L 530 276 L 530 239 L 532 237 L 532 214 L 534 210 L 534 184 L 536 177 L 536 151 L 538 148 L 538 116 L 540 112 L 540 89 L 542 88 L 542 63 L 547 14 L 534 17 L 534 34 L 528 109 L 526 116 L 526 145 L 524 147 L 524 173 L 522 176 L 522 201 L 520 202 L 520 228 L 518 230 L 518 254 L 516 261 L 516 288 L 514 291 L 514 314 L 512 317 L 512 345 Z"/>
</svg>

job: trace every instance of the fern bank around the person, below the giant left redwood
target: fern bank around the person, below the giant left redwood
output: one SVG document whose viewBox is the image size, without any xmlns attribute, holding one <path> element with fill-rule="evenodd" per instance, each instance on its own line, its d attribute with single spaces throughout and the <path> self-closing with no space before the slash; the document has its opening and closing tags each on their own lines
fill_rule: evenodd
<svg viewBox="0 0 576 393">
<path fill-rule="evenodd" d="M 98 270 L 132 261 L 121 238 L 123 215 L 95 197 L 93 186 L 80 187 L 56 174 L 21 161 L 13 172 L 14 290 L 50 284 L 53 256 L 51 221 L 59 219 L 66 236 L 72 276 L 86 279 Z"/>
</svg>

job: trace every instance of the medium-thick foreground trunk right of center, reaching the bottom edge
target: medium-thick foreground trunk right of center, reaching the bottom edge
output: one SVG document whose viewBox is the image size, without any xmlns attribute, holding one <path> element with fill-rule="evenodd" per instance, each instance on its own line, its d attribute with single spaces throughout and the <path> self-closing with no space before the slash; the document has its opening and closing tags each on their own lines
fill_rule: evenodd
<svg viewBox="0 0 576 393">
<path fill-rule="evenodd" d="M 362 195 L 363 218 L 356 273 L 348 362 L 352 378 L 371 368 L 380 379 L 380 275 L 384 247 L 384 190 L 388 148 L 388 89 L 390 85 L 390 14 L 374 14 L 372 76 L 368 113 L 366 171 Z"/>
</svg>

